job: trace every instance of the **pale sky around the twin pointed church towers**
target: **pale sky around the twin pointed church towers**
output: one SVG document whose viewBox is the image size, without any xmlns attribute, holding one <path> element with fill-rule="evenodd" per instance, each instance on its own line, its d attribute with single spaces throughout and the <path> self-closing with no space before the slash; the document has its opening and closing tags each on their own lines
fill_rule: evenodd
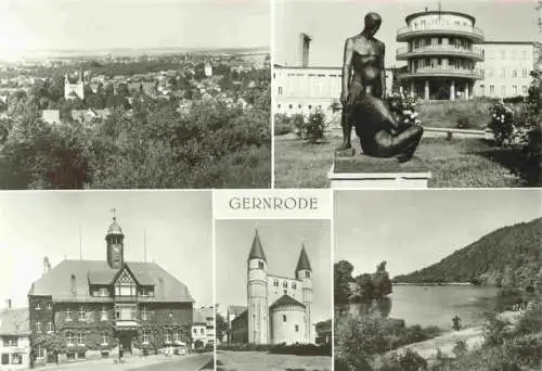
<svg viewBox="0 0 542 371">
<path fill-rule="evenodd" d="M 247 304 L 246 264 L 258 228 L 269 273 L 295 278 L 301 243 L 312 267 L 312 321 L 332 317 L 332 257 L 328 220 L 217 220 L 217 303 L 225 314 L 229 305 Z"/>
</svg>

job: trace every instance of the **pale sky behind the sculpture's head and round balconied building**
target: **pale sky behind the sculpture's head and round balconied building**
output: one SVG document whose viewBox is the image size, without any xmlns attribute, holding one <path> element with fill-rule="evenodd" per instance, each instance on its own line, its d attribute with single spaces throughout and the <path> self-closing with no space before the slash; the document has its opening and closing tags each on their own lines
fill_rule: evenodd
<svg viewBox="0 0 542 371">
<path fill-rule="evenodd" d="M 404 17 L 414 12 L 438 9 L 438 0 L 278 0 L 274 23 L 274 63 L 298 65 L 299 34 L 312 37 L 309 64 L 340 66 L 346 38 L 363 29 L 367 12 L 377 12 L 383 24 L 376 38 L 386 44 L 386 65 L 399 65 L 397 30 L 406 26 Z M 441 0 L 442 10 L 474 15 L 486 40 L 535 41 L 535 0 Z M 403 62 L 400 62 L 403 63 Z"/>
</svg>

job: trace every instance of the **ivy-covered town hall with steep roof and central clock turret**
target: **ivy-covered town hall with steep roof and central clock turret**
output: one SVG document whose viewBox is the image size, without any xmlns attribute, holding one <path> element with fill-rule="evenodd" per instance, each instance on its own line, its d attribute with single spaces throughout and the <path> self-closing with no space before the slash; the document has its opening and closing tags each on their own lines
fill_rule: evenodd
<svg viewBox="0 0 542 371">
<path fill-rule="evenodd" d="M 116 218 L 104 260 L 63 260 L 28 292 L 31 361 L 129 357 L 185 348 L 193 303 L 189 289 L 155 263 L 126 261 Z"/>
</svg>

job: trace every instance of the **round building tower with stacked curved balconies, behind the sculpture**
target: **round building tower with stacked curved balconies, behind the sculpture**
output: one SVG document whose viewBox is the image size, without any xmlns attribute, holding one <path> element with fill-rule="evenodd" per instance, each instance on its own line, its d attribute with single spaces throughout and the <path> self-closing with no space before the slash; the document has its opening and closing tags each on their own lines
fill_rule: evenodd
<svg viewBox="0 0 542 371">
<path fill-rule="evenodd" d="M 397 50 L 397 60 L 406 61 L 406 71 L 398 76 L 401 86 L 426 100 L 469 99 L 474 82 L 482 78 L 476 63 L 483 61 L 483 51 L 475 44 L 483 41 L 483 33 L 475 27 L 475 17 L 426 10 L 405 22 L 397 31 L 397 41 L 406 42 Z"/>
</svg>

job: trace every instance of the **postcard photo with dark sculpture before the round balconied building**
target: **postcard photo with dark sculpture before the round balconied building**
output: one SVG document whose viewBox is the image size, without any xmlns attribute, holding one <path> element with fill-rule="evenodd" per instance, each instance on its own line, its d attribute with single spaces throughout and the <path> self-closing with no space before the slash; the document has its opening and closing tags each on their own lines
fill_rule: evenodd
<svg viewBox="0 0 542 371">
<path fill-rule="evenodd" d="M 280 2 L 276 187 L 540 187 L 541 10 Z"/>
</svg>

